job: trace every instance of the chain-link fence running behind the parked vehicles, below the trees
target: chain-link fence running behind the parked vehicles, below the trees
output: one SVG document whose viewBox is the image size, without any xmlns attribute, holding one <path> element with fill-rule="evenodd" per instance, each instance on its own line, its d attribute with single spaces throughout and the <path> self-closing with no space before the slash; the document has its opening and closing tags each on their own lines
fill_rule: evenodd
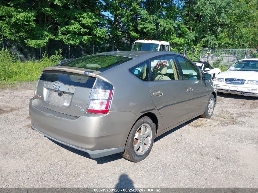
<svg viewBox="0 0 258 193">
<path fill-rule="evenodd" d="M 55 55 L 55 51 L 62 49 L 62 57 L 78 58 L 85 55 L 111 52 L 111 51 L 126 51 L 131 50 L 133 44 L 90 44 L 86 45 L 80 43 L 78 45 L 67 45 L 62 41 L 49 41 L 48 45 L 44 48 L 32 48 L 27 46 L 23 41 L 12 41 L 3 39 L 1 48 L 8 48 L 13 53 L 16 60 L 40 60 L 42 55 L 48 56 Z M 234 62 L 245 58 L 257 58 L 258 50 L 250 49 L 224 49 L 224 48 L 207 48 L 207 47 L 190 47 L 170 45 L 170 51 L 186 55 L 192 61 L 199 60 L 210 63 L 213 67 L 228 68 Z"/>
</svg>

